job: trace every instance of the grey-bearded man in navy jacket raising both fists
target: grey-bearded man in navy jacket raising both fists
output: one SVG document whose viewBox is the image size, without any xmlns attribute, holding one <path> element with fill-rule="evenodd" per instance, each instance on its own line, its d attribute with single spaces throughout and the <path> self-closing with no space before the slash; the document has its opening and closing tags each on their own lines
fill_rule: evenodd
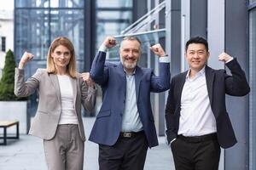
<svg viewBox="0 0 256 170">
<path fill-rule="evenodd" d="M 142 43 L 137 37 L 120 42 L 119 65 L 105 63 L 108 48 L 116 45 L 107 37 L 93 60 L 90 77 L 102 88 L 102 108 L 90 133 L 99 144 L 100 170 L 142 170 L 148 147 L 158 145 L 150 92 L 170 87 L 170 59 L 160 44 L 151 47 L 160 57 L 160 74 L 137 65 Z"/>
</svg>

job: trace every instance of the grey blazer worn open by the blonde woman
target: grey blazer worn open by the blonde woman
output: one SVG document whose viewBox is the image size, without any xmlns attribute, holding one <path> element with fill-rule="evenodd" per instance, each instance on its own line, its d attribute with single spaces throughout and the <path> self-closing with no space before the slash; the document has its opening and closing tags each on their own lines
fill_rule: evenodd
<svg viewBox="0 0 256 170">
<path fill-rule="evenodd" d="M 81 139 L 85 140 L 84 125 L 81 116 L 81 104 L 87 111 L 92 111 L 96 101 L 96 89 L 88 88 L 83 79 L 77 74 L 76 79 L 72 79 L 73 101 L 79 121 L 79 133 Z M 61 92 L 58 78 L 55 74 L 50 74 L 46 69 L 38 71 L 25 82 L 24 70 L 15 69 L 15 95 L 26 97 L 38 89 L 39 104 L 38 111 L 29 134 L 42 139 L 52 139 L 58 126 L 61 116 Z"/>
</svg>

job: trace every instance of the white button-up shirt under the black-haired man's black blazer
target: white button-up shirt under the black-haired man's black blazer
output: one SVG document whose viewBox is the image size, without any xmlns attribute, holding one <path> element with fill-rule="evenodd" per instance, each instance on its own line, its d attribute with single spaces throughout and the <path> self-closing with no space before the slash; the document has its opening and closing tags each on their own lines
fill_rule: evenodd
<svg viewBox="0 0 256 170">
<path fill-rule="evenodd" d="M 201 136 L 216 133 L 216 120 L 207 92 L 205 67 L 193 79 L 189 79 L 189 71 L 183 86 L 177 134 Z"/>
</svg>

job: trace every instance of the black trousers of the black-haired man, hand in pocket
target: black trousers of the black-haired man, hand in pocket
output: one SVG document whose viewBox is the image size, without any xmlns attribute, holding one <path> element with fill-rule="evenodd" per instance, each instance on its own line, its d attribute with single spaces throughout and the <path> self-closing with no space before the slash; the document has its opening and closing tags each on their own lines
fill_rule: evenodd
<svg viewBox="0 0 256 170">
<path fill-rule="evenodd" d="M 218 170 L 220 146 L 217 137 L 200 139 L 178 136 L 172 142 L 176 170 Z"/>
</svg>

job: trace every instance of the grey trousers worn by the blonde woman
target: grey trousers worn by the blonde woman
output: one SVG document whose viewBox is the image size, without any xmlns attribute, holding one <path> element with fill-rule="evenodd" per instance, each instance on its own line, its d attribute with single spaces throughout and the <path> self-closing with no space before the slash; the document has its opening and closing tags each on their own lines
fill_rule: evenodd
<svg viewBox="0 0 256 170">
<path fill-rule="evenodd" d="M 44 140 L 49 170 L 83 170 L 84 141 L 75 124 L 59 125 L 55 137 Z"/>
</svg>

